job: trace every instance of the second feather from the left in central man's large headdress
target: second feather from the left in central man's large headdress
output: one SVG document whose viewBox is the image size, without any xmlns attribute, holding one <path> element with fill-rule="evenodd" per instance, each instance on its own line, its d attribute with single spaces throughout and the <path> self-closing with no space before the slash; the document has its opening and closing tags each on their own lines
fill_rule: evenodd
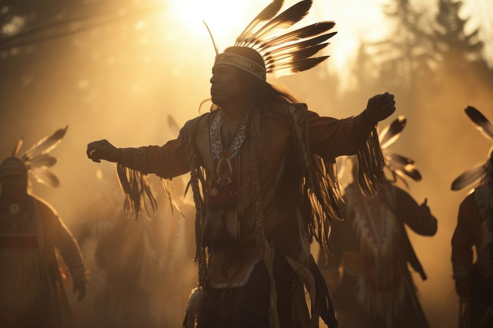
<svg viewBox="0 0 493 328">
<path fill-rule="evenodd" d="M 270 33 L 286 29 L 293 24 L 302 20 L 312 7 L 313 0 L 302 0 L 291 7 L 284 10 L 282 13 L 267 22 L 264 26 L 258 29 L 252 36 L 245 38 L 246 44 L 259 44 L 262 42 L 262 37 L 268 36 Z"/>
</svg>

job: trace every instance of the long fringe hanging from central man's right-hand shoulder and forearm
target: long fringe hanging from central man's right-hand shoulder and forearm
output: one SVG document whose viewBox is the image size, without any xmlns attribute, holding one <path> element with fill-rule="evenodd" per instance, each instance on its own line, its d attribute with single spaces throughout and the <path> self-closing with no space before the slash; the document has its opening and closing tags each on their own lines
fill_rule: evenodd
<svg viewBox="0 0 493 328">
<path fill-rule="evenodd" d="M 303 106 L 288 104 L 286 110 L 293 120 L 298 157 L 304 169 L 301 183 L 304 224 L 309 235 L 320 244 L 327 261 L 328 255 L 332 254 L 328 244 L 330 224 L 333 220 L 342 220 L 339 207 L 344 204 L 335 158 L 322 158 L 311 153 L 308 120 Z M 359 186 L 367 194 L 374 195 L 377 185 L 384 179 L 384 157 L 376 128 L 359 149 L 357 158 Z"/>
</svg>

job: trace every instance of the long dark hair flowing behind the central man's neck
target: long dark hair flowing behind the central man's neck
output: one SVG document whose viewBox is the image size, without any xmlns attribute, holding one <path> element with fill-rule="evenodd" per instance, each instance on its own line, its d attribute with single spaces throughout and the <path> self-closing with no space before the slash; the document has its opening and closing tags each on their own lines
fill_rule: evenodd
<svg viewBox="0 0 493 328">
<path fill-rule="evenodd" d="M 247 99 L 249 102 L 248 105 L 250 108 L 256 108 L 260 111 L 264 111 L 272 108 L 275 104 L 298 102 L 296 97 L 290 91 L 282 89 L 281 87 L 273 86 L 272 84 L 255 77 L 243 69 L 237 68 L 237 70 L 242 84 L 244 86 L 250 85 L 247 91 Z M 219 106 L 212 104 L 211 112 L 216 109 L 219 109 Z"/>
</svg>

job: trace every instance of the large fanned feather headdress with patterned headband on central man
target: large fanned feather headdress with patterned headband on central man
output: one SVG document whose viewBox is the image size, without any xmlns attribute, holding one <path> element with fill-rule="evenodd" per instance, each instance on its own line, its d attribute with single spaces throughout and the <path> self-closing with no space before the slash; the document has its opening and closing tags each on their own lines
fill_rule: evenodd
<svg viewBox="0 0 493 328">
<path fill-rule="evenodd" d="M 329 58 L 312 56 L 337 33 L 325 33 L 335 23 L 324 21 L 285 32 L 306 17 L 313 0 L 302 0 L 278 14 L 283 3 L 273 0 L 236 38 L 235 46 L 226 48 L 222 54 L 218 54 L 211 34 L 217 54 L 214 65 L 233 65 L 265 81 L 267 73 L 279 77 L 303 72 Z"/>
</svg>

